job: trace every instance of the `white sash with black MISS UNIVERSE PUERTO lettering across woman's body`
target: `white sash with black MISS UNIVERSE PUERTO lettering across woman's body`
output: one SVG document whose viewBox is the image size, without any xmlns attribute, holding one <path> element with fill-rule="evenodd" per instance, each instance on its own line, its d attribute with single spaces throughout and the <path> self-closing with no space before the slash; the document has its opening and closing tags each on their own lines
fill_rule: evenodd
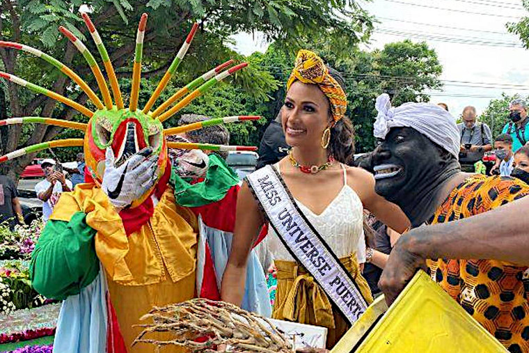
<svg viewBox="0 0 529 353">
<path fill-rule="evenodd" d="M 356 282 L 322 236 L 306 219 L 273 166 L 246 177 L 270 225 L 292 256 L 301 262 L 327 297 L 352 324 L 368 304 Z"/>
</svg>

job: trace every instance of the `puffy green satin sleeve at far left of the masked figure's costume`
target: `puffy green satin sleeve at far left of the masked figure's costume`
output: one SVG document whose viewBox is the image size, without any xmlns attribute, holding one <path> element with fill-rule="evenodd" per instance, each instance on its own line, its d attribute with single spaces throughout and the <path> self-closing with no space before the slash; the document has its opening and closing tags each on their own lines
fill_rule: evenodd
<svg viewBox="0 0 529 353">
<path fill-rule="evenodd" d="M 69 222 L 48 221 L 31 254 L 33 288 L 47 298 L 62 300 L 92 283 L 100 270 L 95 233 L 84 212 L 76 212 Z"/>
</svg>

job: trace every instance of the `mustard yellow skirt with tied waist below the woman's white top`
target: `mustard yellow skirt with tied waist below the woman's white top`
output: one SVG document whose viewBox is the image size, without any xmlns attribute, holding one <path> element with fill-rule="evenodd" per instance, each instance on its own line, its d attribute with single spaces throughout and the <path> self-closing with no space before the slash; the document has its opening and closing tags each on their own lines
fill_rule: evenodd
<svg viewBox="0 0 529 353">
<path fill-rule="evenodd" d="M 340 262 L 352 275 L 363 297 L 373 301 L 368 282 L 360 273 L 356 254 L 352 253 Z M 275 260 L 277 268 L 276 301 L 272 317 L 278 320 L 299 322 L 326 327 L 327 348 L 331 349 L 349 329 L 350 325 L 339 311 L 333 310 L 331 301 L 313 276 L 298 262 Z"/>
</svg>

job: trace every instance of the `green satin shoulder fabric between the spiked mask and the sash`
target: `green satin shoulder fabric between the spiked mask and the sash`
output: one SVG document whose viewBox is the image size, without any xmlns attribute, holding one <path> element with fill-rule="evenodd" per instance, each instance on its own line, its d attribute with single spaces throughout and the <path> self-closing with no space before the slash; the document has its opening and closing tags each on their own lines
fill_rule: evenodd
<svg viewBox="0 0 529 353">
<path fill-rule="evenodd" d="M 229 189 L 239 183 L 237 174 L 217 155 L 211 154 L 205 180 L 191 184 L 171 171 L 171 182 L 175 187 L 178 205 L 200 207 L 222 200 Z"/>
</svg>

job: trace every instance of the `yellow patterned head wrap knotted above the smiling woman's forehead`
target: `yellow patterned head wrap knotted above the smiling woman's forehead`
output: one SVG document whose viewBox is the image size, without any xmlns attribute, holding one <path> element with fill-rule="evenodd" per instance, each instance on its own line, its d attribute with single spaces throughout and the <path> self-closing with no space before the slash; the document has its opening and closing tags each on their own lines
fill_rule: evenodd
<svg viewBox="0 0 529 353">
<path fill-rule="evenodd" d="M 297 79 L 303 84 L 319 86 L 331 102 L 331 112 L 335 122 L 345 116 L 347 97 L 342 86 L 329 74 L 329 68 L 326 67 L 322 58 L 310 50 L 301 49 L 297 54 L 294 70 L 287 81 L 287 90 Z"/>
</svg>

